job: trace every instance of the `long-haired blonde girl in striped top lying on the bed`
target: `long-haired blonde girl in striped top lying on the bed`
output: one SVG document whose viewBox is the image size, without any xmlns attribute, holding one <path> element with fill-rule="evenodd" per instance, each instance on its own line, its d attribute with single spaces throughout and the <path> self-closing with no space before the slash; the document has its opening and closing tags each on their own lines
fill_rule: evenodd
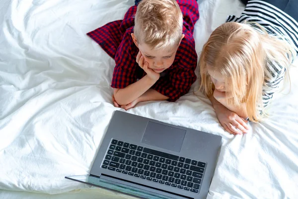
<svg viewBox="0 0 298 199">
<path fill-rule="evenodd" d="M 298 53 L 298 3 L 242 1 L 240 17 L 229 16 L 211 34 L 199 60 L 200 90 L 232 134 L 247 133 L 248 119 L 264 117 Z"/>
</svg>

